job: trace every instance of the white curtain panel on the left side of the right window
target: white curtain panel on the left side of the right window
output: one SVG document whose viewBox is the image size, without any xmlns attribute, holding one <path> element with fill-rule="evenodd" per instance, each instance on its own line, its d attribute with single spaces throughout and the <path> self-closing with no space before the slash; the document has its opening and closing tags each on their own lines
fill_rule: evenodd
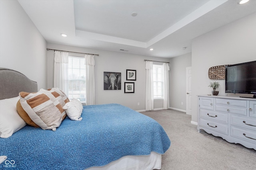
<svg viewBox="0 0 256 170">
<path fill-rule="evenodd" d="M 146 61 L 146 110 L 154 109 L 153 62 Z"/>
</svg>

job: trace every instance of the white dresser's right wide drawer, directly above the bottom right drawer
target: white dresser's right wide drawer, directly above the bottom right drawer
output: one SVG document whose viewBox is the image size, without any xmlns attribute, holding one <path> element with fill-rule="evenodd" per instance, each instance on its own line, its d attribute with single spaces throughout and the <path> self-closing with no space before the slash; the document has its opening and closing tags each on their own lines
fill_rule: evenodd
<svg viewBox="0 0 256 170">
<path fill-rule="evenodd" d="M 248 117 L 230 115 L 230 124 L 234 126 L 256 130 L 256 119 Z"/>
</svg>

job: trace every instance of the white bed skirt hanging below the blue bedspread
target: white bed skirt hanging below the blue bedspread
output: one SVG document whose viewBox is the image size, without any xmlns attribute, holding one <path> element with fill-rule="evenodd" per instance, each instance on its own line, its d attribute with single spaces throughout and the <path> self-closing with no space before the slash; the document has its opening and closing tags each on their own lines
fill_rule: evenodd
<svg viewBox="0 0 256 170">
<path fill-rule="evenodd" d="M 150 155 L 123 156 L 105 166 L 94 166 L 86 170 L 160 170 L 162 155 L 151 152 Z"/>
</svg>

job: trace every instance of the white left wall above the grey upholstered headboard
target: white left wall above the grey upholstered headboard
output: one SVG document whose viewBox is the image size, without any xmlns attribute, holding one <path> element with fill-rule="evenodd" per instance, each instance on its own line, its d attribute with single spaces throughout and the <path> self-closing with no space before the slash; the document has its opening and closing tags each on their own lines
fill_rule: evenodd
<svg viewBox="0 0 256 170">
<path fill-rule="evenodd" d="M 0 67 L 46 88 L 46 41 L 16 0 L 0 0 Z"/>
</svg>

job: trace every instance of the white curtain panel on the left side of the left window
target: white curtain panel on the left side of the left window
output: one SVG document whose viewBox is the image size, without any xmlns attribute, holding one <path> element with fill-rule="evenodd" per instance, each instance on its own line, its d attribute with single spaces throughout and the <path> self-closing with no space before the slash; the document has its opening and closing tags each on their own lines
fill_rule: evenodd
<svg viewBox="0 0 256 170">
<path fill-rule="evenodd" d="M 68 53 L 64 51 L 54 52 L 54 83 L 68 95 Z"/>
</svg>

